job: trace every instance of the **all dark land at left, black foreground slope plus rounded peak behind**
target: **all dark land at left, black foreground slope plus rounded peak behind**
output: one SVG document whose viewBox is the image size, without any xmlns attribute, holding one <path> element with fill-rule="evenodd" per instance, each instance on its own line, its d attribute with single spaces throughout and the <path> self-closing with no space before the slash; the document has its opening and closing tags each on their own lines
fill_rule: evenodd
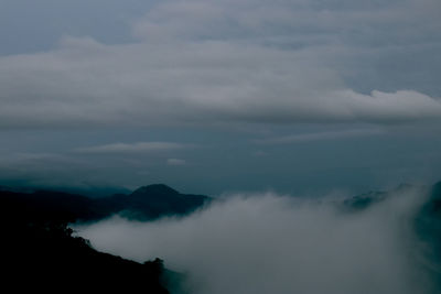
<svg viewBox="0 0 441 294">
<path fill-rule="evenodd" d="M 151 185 L 131 195 L 94 199 L 58 192 L 0 192 L 1 281 L 9 293 L 86 292 L 169 293 L 161 260 L 143 264 L 94 250 L 74 237 L 69 222 L 98 220 L 120 213 L 154 219 L 184 215 L 208 198 Z"/>
</svg>

